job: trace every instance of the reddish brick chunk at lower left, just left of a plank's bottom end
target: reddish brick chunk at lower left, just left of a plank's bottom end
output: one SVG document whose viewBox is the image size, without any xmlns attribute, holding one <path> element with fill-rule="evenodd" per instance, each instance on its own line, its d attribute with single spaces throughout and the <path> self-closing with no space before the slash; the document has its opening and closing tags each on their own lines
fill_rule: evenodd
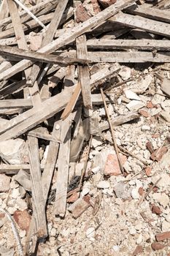
<svg viewBox="0 0 170 256">
<path fill-rule="evenodd" d="M 21 230 L 26 230 L 28 232 L 28 228 L 31 222 L 31 215 L 28 214 L 28 211 L 15 211 L 13 215 L 15 222 L 18 223 L 18 226 Z"/>
</svg>

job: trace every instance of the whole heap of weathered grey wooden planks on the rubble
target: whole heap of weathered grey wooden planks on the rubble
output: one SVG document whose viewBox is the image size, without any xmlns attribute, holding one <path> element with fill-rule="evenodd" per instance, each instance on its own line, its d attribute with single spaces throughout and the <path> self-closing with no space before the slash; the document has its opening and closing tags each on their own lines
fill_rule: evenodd
<svg viewBox="0 0 170 256">
<path fill-rule="evenodd" d="M 80 1 L 33 2 L 3 0 L 0 6 L 0 141 L 24 138 L 29 155 L 22 165 L 1 160 L 0 173 L 31 176 L 25 254 L 33 234 L 34 244 L 48 236 L 45 209 L 54 173 L 53 214 L 65 216 L 69 162 L 79 160 L 85 140 L 98 132 L 90 111 L 103 104 L 99 89 L 120 71 L 118 63 L 170 62 L 169 1 L 117 0 L 79 23 Z M 137 117 L 119 116 L 112 124 Z M 39 141 L 48 146 L 44 164 Z"/>
</svg>

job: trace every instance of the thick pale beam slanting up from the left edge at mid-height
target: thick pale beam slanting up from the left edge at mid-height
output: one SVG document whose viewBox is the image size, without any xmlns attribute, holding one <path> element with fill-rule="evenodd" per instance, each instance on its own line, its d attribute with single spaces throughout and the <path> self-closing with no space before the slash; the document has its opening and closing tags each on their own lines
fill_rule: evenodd
<svg viewBox="0 0 170 256">
<path fill-rule="evenodd" d="M 42 123 L 47 118 L 54 116 L 55 113 L 65 108 L 70 96 L 71 92 L 67 91 L 65 93 L 63 91 L 50 99 L 46 99 L 37 108 L 31 108 L 31 110 L 12 118 L 6 129 L 0 132 L 0 140 L 16 138 L 29 129 L 36 127 L 37 124 Z"/>
</svg>

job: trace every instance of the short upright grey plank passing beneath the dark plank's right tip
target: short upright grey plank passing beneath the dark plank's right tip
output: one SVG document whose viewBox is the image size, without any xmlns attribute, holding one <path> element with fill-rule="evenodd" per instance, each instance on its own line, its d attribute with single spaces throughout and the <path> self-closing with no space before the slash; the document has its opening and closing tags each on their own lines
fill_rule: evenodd
<svg viewBox="0 0 170 256">
<path fill-rule="evenodd" d="M 83 34 L 76 39 L 77 46 L 77 58 L 88 59 L 88 49 L 86 45 L 86 37 Z M 87 66 L 80 67 L 78 66 L 81 90 L 82 90 L 82 99 L 85 108 L 92 108 L 91 102 L 91 91 L 90 91 L 90 72 Z"/>
</svg>

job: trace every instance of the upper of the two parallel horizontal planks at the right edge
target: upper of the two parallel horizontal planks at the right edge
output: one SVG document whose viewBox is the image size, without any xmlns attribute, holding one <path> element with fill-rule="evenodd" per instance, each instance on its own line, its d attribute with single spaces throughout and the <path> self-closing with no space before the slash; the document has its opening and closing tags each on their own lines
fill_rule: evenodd
<svg viewBox="0 0 170 256">
<path fill-rule="evenodd" d="M 137 50 L 170 50 L 169 40 L 155 39 L 90 39 L 87 41 L 90 49 L 137 49 Z"/>
</svg>

